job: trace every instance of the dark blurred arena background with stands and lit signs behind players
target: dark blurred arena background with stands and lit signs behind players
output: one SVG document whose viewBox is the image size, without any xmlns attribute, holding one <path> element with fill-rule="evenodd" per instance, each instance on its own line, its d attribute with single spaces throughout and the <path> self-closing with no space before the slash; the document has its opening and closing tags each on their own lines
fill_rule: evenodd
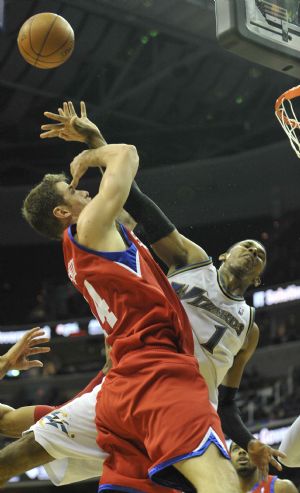
<svg viewBox="0 0 300 493">
<path fill-rule="evenodd" d="M 84 149 L 41 140 L 43 112 L 84 100 L 109 142 L 137 147 L 138 183 L 216 263 L 239 240 L 265 245 L 263 283 L 248 296 L 261 338 L 238 403 L 248 427 L 275 447 L 299 415 L 300 163 L 274 115 L 277 97 L 300 79 L 299 2 L 239 2 L 257 8 L 258 20 L 237 8 L 237 23 L 262 29 L 254 43 L 238 26 L 224 34 L 223 17 L 217 39 L 215 8 L 227 0 L 0 0 L 0 354 L 24 329 L 51 336 L 43 369 L 7 374 L 1 402 L 65 402 L 104 364 L 103 331 L 67 279 L 61 246 L 20 213 L 28 190 L 46 172 L 67 172 Z M 276 32 L 265 38 L 264 29 L 278 35 L 276 7 L 291 25 L 271 46 Z M 18 52 L 21 25 L 39 12 L 60 14 L 75 32 L 73 55 L 56 69 L 32 67 Z M 286 36 L 296 39 L 290 52 Z M 97 183 L 96 172 L 83 180 L 91 193 Z M 299 469 L 280 477 L 300 487 Z M 19 488 L 56 491 L 43 468 L 7 486 Z M 61 491 L 97 491 L 97 483 Z"/>
</svg>

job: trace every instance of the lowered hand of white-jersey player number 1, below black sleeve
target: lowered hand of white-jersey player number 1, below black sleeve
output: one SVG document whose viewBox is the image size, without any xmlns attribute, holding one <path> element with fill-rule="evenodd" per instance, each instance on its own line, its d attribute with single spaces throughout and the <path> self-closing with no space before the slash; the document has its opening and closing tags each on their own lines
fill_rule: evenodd
<svg viewBox="0 0 300 493">
<path fill-rule="evenodd" d="M 282 471 L 282 466 L 276 458 L 284 458 L 286 456 L 279 450 L 269 447 L 269 445 L 266 445 L 259 440 L 253 439 L 250 440 L 248 444 L 247 452 L 253 464 L 259 469 L 262 479 L 267 478 L 270 464 L 275 467 L 277 471 Z"/>
</svg>

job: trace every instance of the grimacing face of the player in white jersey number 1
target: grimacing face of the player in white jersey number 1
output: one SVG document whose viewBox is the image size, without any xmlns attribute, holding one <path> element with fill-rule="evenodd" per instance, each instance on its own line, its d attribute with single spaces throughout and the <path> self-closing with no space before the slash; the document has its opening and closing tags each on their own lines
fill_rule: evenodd
<svg viewBox="0 0 300 493">
<path fill-rule="evenodd" d="M 255 240 L 240 241 L 228 252 L 226 262 L 240 276 L 259 278 L 266 266 L 266 251 Z"/>
</svg>

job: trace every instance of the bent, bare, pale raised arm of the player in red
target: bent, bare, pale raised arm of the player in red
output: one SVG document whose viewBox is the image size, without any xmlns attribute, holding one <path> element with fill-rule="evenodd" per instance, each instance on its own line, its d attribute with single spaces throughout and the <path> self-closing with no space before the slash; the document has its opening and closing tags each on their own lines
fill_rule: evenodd
<svg viewBox="0 0 300 493">
<path fill-rule="evenodd" d="M 88 168 L 106 168 L 99 192 L 79 215 L 77 235 L 80 243 L 99 250 L 107 248 L 108 235 L 113 234 L 115 219 L 128 197 L 138 162 L 136 148 L 126 144 L 109 144 L 84 151 L 72 161 L 71 188 L 77 187 Z"/>
</svg>

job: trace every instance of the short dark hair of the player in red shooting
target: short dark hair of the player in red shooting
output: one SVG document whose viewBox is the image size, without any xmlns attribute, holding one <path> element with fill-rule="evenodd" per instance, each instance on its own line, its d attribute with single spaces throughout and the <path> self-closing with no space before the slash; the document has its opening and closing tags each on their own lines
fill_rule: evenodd
<svg viewBox="0 0 300 493">
<path fill-rule="evenodd" d="M 60 240 L 64 225 L 53 215 L 53 209 L 65 203 L 56 185 L 67 177 L 64 173 L 47 174 L 27 195 L 23 202 L 22 214 L 30 226 L 41 235 Z"/>
</svg>

